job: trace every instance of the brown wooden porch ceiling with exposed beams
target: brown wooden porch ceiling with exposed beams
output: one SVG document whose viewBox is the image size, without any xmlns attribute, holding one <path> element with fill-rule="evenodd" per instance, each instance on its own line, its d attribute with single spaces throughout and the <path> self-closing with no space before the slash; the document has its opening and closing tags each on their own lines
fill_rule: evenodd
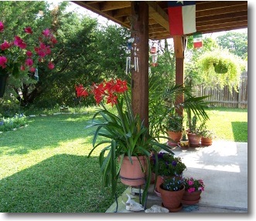
<svg viewBox="0 0 256 221">
<path fill-rule="evenodd" d="M 124 27 L 131 27 L 131 1 L 72 1 Z M 147 2 L 147 1 L 146 1 Z M 167 1 L 148 1 L 149 39 L 169 39 Z M 202 33 L 247 28 L 247 1 L 196 1 L 196 30 Z"/>
</svg>

